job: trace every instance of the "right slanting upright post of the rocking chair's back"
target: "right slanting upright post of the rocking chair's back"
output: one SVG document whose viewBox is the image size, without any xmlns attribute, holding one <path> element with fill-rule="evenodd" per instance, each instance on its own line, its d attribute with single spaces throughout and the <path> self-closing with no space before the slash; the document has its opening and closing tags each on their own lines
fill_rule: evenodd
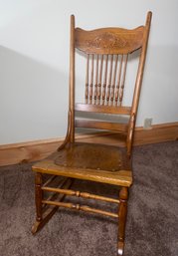
<svg viewBox="0 0 178 256">
<path fill-rule="evenodd" d="M 146 23 L 145 23 L 145 27 L 144 27 L 143 44 L 142 44 L 141 55 L 140 55 L 140 59 L 139 59 L 139 66 L 138 66 L 138 71 L 137 71 L 137 76 L 136 76 L 132 108 L 131 108 L 131 115 L 130 115 L 128 133 L 127 133 L 126 145 L 127 145 L 127 154 L 129 156 L 131 155 L 133 133 L 134 133 L 134 128 L 135 128 L 139 96 L 140 96 L 141 84 L 142 84 L 142 79 L 143 79 L 143 71 L 144 71 L 144 65 L 145 65 L 145 60 L 146 60 L 146 51 L 147 51 L 150 25 L 151 25 L 151 17 L 152 17 L 152 12 L 149 11 L 147 13 Z"/>
</svg>

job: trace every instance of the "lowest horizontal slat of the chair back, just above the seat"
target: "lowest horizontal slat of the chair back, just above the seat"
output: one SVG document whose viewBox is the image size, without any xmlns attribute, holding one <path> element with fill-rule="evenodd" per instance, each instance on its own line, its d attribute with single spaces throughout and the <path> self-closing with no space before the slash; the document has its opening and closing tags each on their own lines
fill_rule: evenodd
<svg viewBox="0 0 178 256">
<path fill-rule="evenodd" d="M 90 121 L 90 120 L 76 120 L 75 127 L 76 128 L 109 129 L 109 130 L 126 132 L 128 125 L 127 124 L 109 123 L 109 122 L 97 122 L 97 121 Z"/>
</svg>

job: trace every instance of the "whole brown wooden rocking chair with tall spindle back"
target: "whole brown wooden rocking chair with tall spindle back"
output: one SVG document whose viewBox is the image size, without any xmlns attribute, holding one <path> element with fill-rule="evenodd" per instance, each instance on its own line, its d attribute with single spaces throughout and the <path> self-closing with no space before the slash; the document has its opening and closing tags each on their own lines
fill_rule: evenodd
<svg viewBox="0 0 178 256">
<path fill-rule="evenodd" d="M 117 255 L 123 255 L 128 188 L 132 184 L 131 148 L 150 22 L 151 12 L 148 12 L 145 26 L 136 29 L 101 28 L 86 31 L 75 27 L 75 17 L 72 15 L 68 131 L 58 150 L 32 167 L 35 171 L 37 214 L 33 233 L 40 230 L 59 207 L 103 214 L 118 218 Z M 130 58 L 133 52 L 137 54 Z M 85 100 L 81 102 L 76 97 L 77 54 L 80 54 L 80 58 L 86 58 Z M 131 104 L 125 105 L 126 71 L 129 61 L 136 58 L 138 66 L 135 86 L 132 87 L 133 96 Z M 131 92 L 131 87 L 127 92 Z M 76 132 L 85 128 L 94 129 L 94 132 L 95 129 L 98 132 L 117 132 L 119 137 L 124 138 L 125 147 L 76 141 Z M 119 197 L 115 199 L 73 190 L 71 186 L 75 179 L 94 181 L 95 185 L 99 182 L 116 185 Z M 116 203 L 118 211 L 108 212 L 65 202 L 66 195 Z"/>
</svg>

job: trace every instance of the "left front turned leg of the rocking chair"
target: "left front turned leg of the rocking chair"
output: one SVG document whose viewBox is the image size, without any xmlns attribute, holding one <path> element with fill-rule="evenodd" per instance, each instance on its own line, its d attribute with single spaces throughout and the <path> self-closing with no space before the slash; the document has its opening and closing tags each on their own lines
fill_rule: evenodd
<svg viewBox="0 0 178 256">
<path fill-rule="evenodd" d="M 37 172 L 35 174 L 35 203 L 36 203 L 36 219 L 42 220 L 42 173 Z"/>
</svg>

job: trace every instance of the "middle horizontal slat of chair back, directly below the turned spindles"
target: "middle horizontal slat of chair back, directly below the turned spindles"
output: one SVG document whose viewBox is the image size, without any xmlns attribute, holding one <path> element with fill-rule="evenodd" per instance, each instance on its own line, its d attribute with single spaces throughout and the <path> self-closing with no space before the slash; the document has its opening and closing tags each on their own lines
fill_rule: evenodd
<svg viewBox="0 0 178 256">
<path fill-rule="evenodd" d="M 89 104 L 76 104 L 75 111 L 78 112 L 95 112 L 113 115 L 130 115 L 130 107 L 117 107 L 117 106 L 101 106 Z"/>
</svg>

